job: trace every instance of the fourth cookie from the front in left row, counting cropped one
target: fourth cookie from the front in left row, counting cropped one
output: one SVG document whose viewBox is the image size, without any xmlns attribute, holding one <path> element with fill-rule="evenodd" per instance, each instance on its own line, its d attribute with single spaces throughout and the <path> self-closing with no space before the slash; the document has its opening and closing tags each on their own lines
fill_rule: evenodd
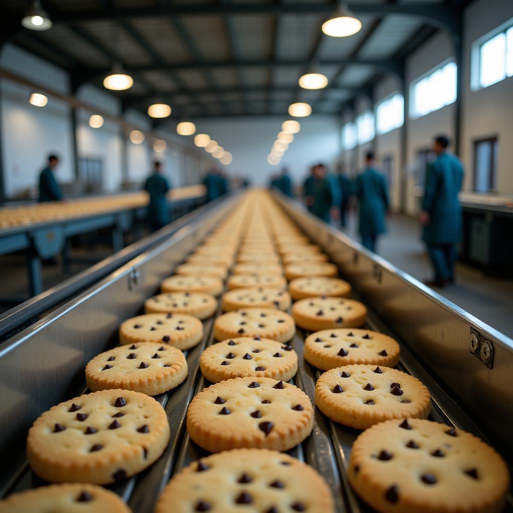
<svg viewBox="0 0 513 513">
<path fill-rule="evenodd" d="M 203 339 L 203 324 L 186 313 L 146 313 L 126 320 L 120 326 L 120 344 L 166 343 L 185 350 Z"/>
</svg>

